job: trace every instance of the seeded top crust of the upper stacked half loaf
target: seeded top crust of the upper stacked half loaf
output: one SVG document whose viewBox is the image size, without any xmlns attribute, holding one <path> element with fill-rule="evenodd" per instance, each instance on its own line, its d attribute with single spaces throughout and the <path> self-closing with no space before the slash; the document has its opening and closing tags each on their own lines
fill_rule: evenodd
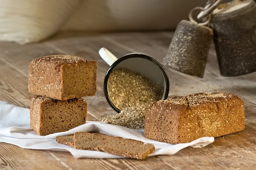
<svg viewBox="0 0 256 170">
<path fill-rule="evenodd" d="M 44 57 L 39 57 L 35 60 L 32 61 L 40 64 L 41 61 L 47 61 L 51 63 L 55 63 L 58 66 L 61 66 L 63 64 L 77 64 L 78 62 L 87 62 L 86 59 L 83 59 L 82 57 L 77 57 L 74 55 L 64 55 L 64 54 L 59 54 L 59 55 L 49 55 L 49 56 L 44 56 Z"/>
</svg>

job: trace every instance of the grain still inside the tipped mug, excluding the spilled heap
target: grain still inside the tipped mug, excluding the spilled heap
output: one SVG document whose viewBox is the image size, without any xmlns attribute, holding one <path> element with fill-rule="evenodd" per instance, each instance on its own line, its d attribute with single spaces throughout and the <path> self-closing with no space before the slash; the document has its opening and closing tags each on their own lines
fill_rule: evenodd
<svg viewBox="0 0 256 170">
<path fill-rule="evenodd" d="M 119 68 L 109 75 L 108 94 L 115 106 L 123 110 L 160 100 L 163 89 L 139 73 Z"/>
</svg>

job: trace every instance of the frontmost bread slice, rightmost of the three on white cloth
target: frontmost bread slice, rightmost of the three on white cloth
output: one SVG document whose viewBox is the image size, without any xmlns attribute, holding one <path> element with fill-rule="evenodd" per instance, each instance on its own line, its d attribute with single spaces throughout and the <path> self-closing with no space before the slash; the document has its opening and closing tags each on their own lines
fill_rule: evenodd
<svg viewBox="0 0 256 170">
<path fill-rule="evenodd" d="M 155 147 L 152 144 L 144 145 L 144 142 L 138 140 L 112 137 L 100 143 L 97 146 L 97 151 L 127 158 L 145 159 L 150 153 L 155 151 Z"/>
</svg>

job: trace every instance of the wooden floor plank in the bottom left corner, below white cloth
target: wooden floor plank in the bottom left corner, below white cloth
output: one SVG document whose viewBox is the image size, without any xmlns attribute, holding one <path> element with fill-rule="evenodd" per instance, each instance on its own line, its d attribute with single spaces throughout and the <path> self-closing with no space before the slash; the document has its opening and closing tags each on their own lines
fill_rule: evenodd
<svg viewBox="0 0 256 170">
<path fill-rule="evenodd" d="M 0 169 L 70 169 L 64 162 L 52 157 L 48 151 L 23 149 L 0 143 Z"/>
</svg>

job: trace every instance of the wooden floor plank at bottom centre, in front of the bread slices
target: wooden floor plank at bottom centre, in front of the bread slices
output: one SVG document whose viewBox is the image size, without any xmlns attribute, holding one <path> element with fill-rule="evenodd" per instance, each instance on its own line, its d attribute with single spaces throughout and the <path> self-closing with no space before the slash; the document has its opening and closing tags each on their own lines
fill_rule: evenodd
<svg viewBox="0 0 256 170">
<path fill-rule="evenodd" d="M 131 169 L 131 170 L 150 170 L 150 169 L 172 169 L 172 167 L 164 164 L 160 159 L 148 157 L 144 160 L 137 159 L 75 159 L 68 152 L 54 152 L 61 161 L 72 169 Z"/>
</svg>

